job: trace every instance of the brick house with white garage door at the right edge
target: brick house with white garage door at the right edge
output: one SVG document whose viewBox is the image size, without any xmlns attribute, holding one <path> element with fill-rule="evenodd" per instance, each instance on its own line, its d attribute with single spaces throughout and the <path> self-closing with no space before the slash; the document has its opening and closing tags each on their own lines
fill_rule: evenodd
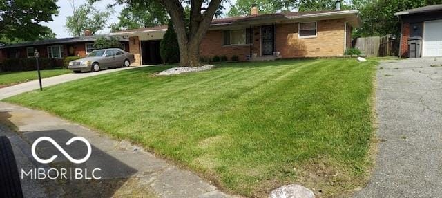
<svg viewBox="0 0 442 198">
<path fill-rule="evenodd" d="M 402 57 L 442 56 L 442 5 L 405 10 L 394 15 L 402 23 Z"/>
</svg>

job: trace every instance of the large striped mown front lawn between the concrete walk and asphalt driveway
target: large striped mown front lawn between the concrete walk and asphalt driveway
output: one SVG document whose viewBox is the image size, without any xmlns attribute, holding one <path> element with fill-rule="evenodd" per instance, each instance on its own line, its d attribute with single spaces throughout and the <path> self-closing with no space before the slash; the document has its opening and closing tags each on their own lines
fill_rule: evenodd
<svg viewBox="0 0 442 198">
<path fill-rule="evenodd" d="M 137 142 L 241 195 L 297 183 L 336 197 L 369 172 L 377 64 L 226 63 L 178 76 L 143 67 L 6 101 Z"/>
</svg>

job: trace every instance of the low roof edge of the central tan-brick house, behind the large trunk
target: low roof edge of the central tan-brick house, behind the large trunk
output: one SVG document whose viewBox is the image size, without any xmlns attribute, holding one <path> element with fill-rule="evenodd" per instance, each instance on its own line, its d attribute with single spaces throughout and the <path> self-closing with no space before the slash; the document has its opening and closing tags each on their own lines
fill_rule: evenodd
<svg viewBox="0 0 442 198">
<path fill-rule="evenodd" d="M 258 14 L 258 15 L 249 15 L 244 17 L 228 17 L 221 19 L 213 19 L 211 23 L 211 27 L 218 25 L 231 25 L 234 23 L 246 23 L 247 21 L 255 21 L 261 19 L 302 19 L 309 17 L 332 17 L 346 14 L 354 14 L 358 15 L 358 11 L 356 10 L 323 10 L 323 11 L 311 11 L 311 12 L 282 12 L 282 13 L 273 13 L 273 14 Z M 134 34 L 139 32 L 165 32 L 167 30 L 167 25 L 161 25 L 151 28 L 138 28 L 131 30 L 122 30 L 111 33 L 111 35 L 125 35 L 125 34 Z"/>
</svg>

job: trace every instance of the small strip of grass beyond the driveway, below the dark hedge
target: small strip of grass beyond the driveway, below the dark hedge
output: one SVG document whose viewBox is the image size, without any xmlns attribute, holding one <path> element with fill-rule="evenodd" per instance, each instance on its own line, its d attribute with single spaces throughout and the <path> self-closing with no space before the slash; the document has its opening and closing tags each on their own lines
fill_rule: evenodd
<svg viewBox="0 0 442 198">
<path fill-rule="evenodd" d="M 68 74 L 68 69 L 49 69 L 41 70 L 41 78 L 48 78 L 51 76 L 58 76 L 61 74 Z M 37 71 L 26 72 L 0 72 L 0 87 L 6 87 L 9 85 L 15 85 L 18 83 L 24 83 L 29 80 L 38 79 Z"/>
</svg>

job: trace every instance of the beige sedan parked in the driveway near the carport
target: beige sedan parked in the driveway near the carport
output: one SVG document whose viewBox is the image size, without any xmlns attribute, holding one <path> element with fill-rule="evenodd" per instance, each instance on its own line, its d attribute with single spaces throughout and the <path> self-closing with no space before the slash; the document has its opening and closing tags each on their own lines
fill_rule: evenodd
<svg viewBox="0 0 442 198">
<path fill-rule="evenodd" d="M 97 72 L 111 67 L 129 67 L 133 62 L 133 54 L 119 48 L 109 48 L 94 50 L 85 58 L 70 61 L 68 69 L 74 72 Z"/>
</svg>

